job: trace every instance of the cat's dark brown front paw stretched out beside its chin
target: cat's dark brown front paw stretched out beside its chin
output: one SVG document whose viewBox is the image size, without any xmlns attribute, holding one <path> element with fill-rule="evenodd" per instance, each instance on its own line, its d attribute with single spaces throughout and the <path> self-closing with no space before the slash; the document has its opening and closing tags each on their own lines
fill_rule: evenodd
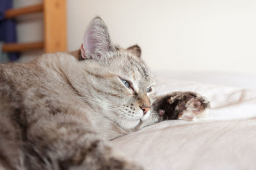
<svg viewBox="0 0 256 170">
<path fill-rule="evenodd" d="M 158 99 L 157 112 L 163 120 L 195 120 L 204 118 L 210 102 L 191 91 L 173 92 Z"/>
</svg>

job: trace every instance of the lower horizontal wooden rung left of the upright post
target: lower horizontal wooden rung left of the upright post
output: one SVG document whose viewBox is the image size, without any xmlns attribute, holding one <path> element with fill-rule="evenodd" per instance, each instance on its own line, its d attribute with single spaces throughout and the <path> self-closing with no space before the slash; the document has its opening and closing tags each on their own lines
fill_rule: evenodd
<svg viewBox="0 0 256 170">
<path fill-rule="evenodd" d="M 20 52 L 23 50 L 43 49 L 44 42 L 33 43 L 6 43 L 3 45 L 4 52 Z"/>
</svg>

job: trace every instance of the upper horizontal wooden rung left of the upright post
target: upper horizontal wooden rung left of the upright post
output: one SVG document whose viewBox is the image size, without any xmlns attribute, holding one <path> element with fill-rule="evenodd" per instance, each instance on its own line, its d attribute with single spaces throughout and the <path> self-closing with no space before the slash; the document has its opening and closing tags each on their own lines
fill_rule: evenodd
<svg viewBox="0 0 256 170">
<path fill-rule="evenodd" d="M 44 10 L 44 5 L 43 4 L 35 4 L 35 5 L 31 5 L 31 6 L 26 6 L 26 7 L 23 7 L 23 8 L 7 10 L 5 12 L 5 18 L 6 19 L 12 19 L 12 18 L 20 16 L 20 15 L 25 15 L 25 14 L 29 14 L 29 13 L 36 13 L 36 12 L 43 12 L 43 10 Z"/>
</svg>

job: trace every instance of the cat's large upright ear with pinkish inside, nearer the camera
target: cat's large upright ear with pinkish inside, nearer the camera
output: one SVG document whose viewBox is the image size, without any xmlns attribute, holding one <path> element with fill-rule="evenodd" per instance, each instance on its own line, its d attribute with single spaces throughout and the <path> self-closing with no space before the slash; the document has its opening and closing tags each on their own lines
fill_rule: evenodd
<svg viewBox="0 0 256 170">
<path fill-rule="evenodd" d="M 81 45 L 82 58 L 102 59 L 108 52 L 114 51 L 108 27 L 100 17 L 95 17 L 84 32 L 83 44 Z"/>
</svg>

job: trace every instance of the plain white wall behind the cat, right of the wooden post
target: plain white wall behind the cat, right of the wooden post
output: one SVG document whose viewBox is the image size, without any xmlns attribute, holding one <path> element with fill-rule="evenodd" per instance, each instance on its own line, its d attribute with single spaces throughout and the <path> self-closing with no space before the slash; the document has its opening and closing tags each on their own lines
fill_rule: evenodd
<svg viewBox="0 0 256 170">
<path fill-rule="evenodd" d="M 67 0 L 68 50 L 95 15 L 153 69 L 256 73 L 255 0 Z"/>
</svg>

